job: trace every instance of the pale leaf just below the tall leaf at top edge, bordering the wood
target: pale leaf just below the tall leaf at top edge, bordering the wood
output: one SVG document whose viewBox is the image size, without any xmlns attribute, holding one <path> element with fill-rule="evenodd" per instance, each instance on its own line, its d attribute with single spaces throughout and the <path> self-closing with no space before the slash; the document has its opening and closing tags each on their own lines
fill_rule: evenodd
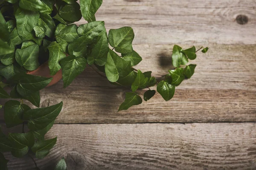
<svg viewBox="0 0 256 170">
<path fill-rule="evenodd" d="M 77 33 L 80 37 L 85 35 L 92 38 L 98 37 L 102 31 L 106 32 L 104 21 L 94 21 L 91 23 L 82 24 L 77 28 Z"/>
</svg>

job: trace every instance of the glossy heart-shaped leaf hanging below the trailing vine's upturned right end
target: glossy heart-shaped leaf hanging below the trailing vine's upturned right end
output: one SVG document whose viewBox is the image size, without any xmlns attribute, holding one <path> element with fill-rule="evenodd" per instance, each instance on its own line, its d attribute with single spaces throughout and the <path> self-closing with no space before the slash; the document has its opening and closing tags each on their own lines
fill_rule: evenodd
<svg viewBox="0 0 256 170">
<path fill-rule="evenodd" d="M 175 85 L 171 85 L 162 80 L 157 85 L 157 92 L 163 97 L 163 99 L 165 99 L 165 101 L 168 101 L 174 96 Z"/>
</svg>

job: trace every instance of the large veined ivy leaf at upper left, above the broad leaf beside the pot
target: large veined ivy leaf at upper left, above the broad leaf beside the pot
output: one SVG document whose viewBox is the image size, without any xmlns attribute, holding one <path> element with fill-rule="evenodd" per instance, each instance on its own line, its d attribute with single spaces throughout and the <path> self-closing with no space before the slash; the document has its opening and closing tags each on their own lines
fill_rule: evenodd
<svg viewBox="0 0 256 170">
<path fill-rule="evenodd" d="M 17 31 L 21 40 L 32 40 L 32 30 L 39 20 L 39 13 L 36 11 L 27 11 L 17 8 L 15 12 Z"/>
</svg>

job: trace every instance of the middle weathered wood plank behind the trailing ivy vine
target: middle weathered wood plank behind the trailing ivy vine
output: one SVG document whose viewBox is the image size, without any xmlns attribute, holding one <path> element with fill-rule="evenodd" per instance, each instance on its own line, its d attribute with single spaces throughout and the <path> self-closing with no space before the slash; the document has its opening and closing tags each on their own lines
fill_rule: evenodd
<svg viewBox="0 0 256 170">
<path fill-rule="evenodd" d="M 159 60 L 171 62 L 172 45 L 134 48 L 144 59 L 136 68 L 152 70 L 160 76 L 171 67 L 161 66 Z M 209 54 L 199 54 L 192 61 L 198 64 L 194 76 L 176 88 L 169 102 L 157 94 L 142 105 L 116 113 L 127 89 L 110 85 L 88 67 L 68 88 L 63 89 L 59 82 L 41 91 L 41 106 L 64 101 L 55 123 L 256 121 L 256 46 L 210 45 L 209 48 Z M 163 53 L 163 58 L 158 53 Z"/>
</svg>

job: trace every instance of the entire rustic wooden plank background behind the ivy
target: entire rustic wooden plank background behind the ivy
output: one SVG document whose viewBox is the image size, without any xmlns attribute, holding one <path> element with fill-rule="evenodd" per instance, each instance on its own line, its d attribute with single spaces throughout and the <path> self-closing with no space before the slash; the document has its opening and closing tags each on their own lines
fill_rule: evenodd
<svg viewBox="0 0 256 170">
<path fill-rule="evenodd" d="M 107 30 L 134 28 L 143 57 L 135 68 L 155 76 L 171 67 L 174 44 L 209 52 L 192 61 L 194 76 L 169 102 L 157 94 L 117 113 L 125 89 L 90 67 L 66 89 L 42 90 L 42 107 L 64 107 L 47 133 L 56 146 L 36 159 L 41 170 L 63 156 L 69 170 L 256 170 L 255 0 L 103 0 L 96 19 Z M 34 167 L 7 158 L 9 170 Z"/>
</svg>

